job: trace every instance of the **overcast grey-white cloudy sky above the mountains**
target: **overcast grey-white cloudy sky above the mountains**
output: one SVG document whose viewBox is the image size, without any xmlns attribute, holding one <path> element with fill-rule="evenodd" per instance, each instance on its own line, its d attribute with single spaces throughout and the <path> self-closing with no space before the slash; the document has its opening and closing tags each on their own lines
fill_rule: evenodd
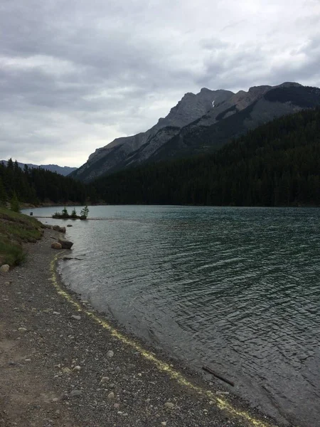
<svg viewBox="0 0 320 427">
<path fill-rule="evenodd" d="M 319 0 L 1 0 L 0 159 L 80 166 L 186 92 L 320 86 Z"/>
</svg>

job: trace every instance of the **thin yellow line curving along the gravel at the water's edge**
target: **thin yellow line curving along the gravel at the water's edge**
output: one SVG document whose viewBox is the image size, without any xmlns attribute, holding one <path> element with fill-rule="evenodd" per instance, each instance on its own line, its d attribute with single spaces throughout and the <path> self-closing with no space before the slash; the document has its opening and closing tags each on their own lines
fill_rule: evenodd
<svg viewBox="0 0 320 427">
<path fill-rule="evenodd" d="M 57 275 L 55 273 L 55 263 L 57 262 L 59 255 L 55 255 L 53 260 L 50 263 L 50 271 L 51 271 L 51 281 L 55 290 L 58 292 L 58 295 L 62 296 L 67 300 L 73 307 L 75 307 L 78 312 L 85 313 L 85 315 L 90 316 L 92 320 L 94 320 L 98 325 L 102 326 L 105 330 L 108 330 L 112 337 L 116 337 L 124 344 L 129 345 L 133 349 L 137 350 L 142 356 L 152 362 L 159 371 L 166 372 L 170 376 L 171 379 L 175 379 L 178 384 L 187 387 L 193 391 L 196 391 L 198 394 L 202 394 L 207 396 L 210 401 L 214 401 L 216 406 L 223 411 L 230 413 L 230 415 L 242 418 L 244 421 L 250 423 L 255 427 L 276 427 L 270 423 L 266 423 L 265 421 L 260 421 L 250 415 L 247 411 L 241 411 L 240 409 L 235 408 L 227 399 L 221 398 L 213 394 L 212 391 L 208 389 L 204 389 L 201 386 L 197 386 L 196 384 L 192 384 L 188 379 L 186 379 L 180 372 L 174 370 L 169 364 L 166 362 L 162 362 L 160 359 L 157 359 L 154 354 L 145 350 L 140 344 L 134 342 L 134 340 L 129 339 L 124 334 L 116 330 L 114 327 L 110 325 L 106 320 L 101 319 L 99 316 L 95 315 L 95 313 L 86 310 L 85 306 L 81 305 L 80 302 L 76 301 L 71 297 L 71 295 L 63 290 L 60 287 Z"/>
</svg>

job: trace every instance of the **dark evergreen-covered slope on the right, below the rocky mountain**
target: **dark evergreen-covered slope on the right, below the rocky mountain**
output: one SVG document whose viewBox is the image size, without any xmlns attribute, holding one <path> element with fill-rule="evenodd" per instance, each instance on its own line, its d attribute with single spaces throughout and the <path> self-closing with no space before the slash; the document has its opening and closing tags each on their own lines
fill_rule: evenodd
<svg viewBox="0 0 320 427">
<path fill-rule="evenodd" d="M 320 206 L 320 109 L 281 117 L 214 154 L 104 176 L 110 204 Z"/>
</svg>

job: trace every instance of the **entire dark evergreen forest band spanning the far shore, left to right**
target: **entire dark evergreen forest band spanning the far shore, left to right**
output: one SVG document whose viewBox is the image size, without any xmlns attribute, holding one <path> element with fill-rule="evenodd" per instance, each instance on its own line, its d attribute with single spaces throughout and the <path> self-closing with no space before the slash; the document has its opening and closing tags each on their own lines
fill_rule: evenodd
<svg viewBox="0 0 320 427">
<path fill-rule="evenodd" d="M 0 205 L 320 206 L 320 109 L 281 117 L 212 154 L 143 164 L 84 184 L 0 164 Z"/>
</svg>

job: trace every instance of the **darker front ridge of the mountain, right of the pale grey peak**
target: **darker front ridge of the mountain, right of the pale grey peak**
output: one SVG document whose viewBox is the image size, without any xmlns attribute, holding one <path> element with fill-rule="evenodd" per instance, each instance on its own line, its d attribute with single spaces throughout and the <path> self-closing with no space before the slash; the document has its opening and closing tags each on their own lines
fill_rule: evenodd
<svg viewBox="0 0 320 427">
<path fill-rule="evenodd" d="M 243 110 L 233 106 L 215 117 L 213 125 L 198 120 L 161 146 L 149 160 L 187 157 L 217 149 L 235 137 L 274 118 L 320 105 L 320 90 L 298 85 L 281 85 L 267 90 Z M 230 115 L 231 114 L 231 115 Z M 210 117 L 211 119 L 211 117 Z"/>
</svg>

